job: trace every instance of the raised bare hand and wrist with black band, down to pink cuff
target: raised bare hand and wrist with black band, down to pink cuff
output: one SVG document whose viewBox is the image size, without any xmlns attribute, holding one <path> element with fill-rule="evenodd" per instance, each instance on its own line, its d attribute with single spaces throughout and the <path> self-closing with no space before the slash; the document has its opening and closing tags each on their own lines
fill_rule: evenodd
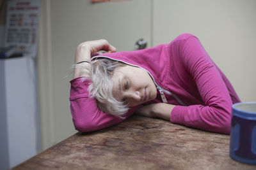
<svg viewBox="0 0 256 170">
<path fill-rule="evenodd" d="M 116 48 L 108 43 L 106 39 L 99 39 L 95 41 L 86 41 L 81 43 L 76 48 L 75 63 L 81 61 L 91 61 L 91 56 L 97 55 L 99 50 L 106 52 L 116 52 Z M 73 78 L 81 76 L 90 76 L 90 66 L 88 62 L 83 62 L 83 67 L 75 67 Z"/>
</svg>

